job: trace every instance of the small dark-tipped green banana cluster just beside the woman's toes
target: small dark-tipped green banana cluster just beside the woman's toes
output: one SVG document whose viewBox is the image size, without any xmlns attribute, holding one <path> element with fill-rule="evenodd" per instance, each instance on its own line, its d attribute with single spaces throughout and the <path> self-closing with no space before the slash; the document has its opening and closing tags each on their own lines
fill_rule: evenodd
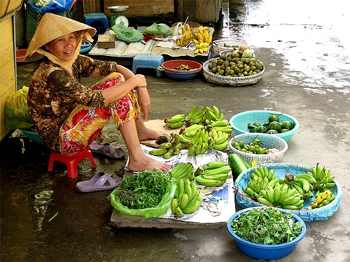
<svg viewBox="0 0 350 262">
<path fill-rule="evenodd" d="M 169 159 L 173 157 L 174 155 L 180 154 L 181 149 L 183 149 L 183 146 L 180 145 L 180 136 L 178 133 L 171 133 L 169 142 L 165 142 L 165 138 L 158 138 L 158 140 L 164 141 L 163 143 L 160 143 L 158 148 L 155 148 L 149 152 L 149 154 L 153 156 L 163 156 L 165 159 Z"/>
</svg>

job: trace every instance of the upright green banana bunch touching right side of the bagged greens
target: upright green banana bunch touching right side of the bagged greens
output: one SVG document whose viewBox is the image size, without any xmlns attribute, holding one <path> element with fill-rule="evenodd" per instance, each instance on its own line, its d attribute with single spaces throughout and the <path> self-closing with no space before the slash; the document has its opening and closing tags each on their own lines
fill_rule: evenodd
<svg viewBox="0 0 350 262">
<path fill-rule="evenodd" d="M 183 214 L 192 214 L 200 208 L 202 194 L 194 181 L 179 179 L 176 181 L 176 195 L 172 198 L 170 209 L 177 217 Z"/>
</svg>

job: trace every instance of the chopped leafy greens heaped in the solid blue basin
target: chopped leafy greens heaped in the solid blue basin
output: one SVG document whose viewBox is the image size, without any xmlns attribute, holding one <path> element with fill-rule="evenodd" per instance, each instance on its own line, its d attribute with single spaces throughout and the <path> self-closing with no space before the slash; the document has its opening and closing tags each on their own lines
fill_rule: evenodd
<svg viewBox="0 0 350 262">
<path fill-rule="evenodd" d="M 240 238 L 262 245 L 280 245 L 297 238 L 302 222 L 295 222 L 292 213 L 276 208 L 252 208 L 228 222 Z"/>
</svg>

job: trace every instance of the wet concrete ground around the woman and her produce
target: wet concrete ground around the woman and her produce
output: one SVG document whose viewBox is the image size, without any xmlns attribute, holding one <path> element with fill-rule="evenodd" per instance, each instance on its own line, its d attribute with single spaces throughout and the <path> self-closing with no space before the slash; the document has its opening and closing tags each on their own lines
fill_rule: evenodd
<svg viewBox="0 0 350 262">
<path fill-rule="evenodd" d="M 194 105 L 216 105 L 227 119 L 246 110 L 276 110 L 300 122 L 283 162 L 320 163 L 332 170 L 343 196 L 328 220 L 307 222 L 306 236 L 279 261 L 350 261 L 350 49 L 346 38 L 350 20 L 346 10 L 347 1 L 224 1 L 215 38 L 236 38 L 251 45 L 266 66 L 255 85 L 218 86 L 202 76 L 179 82 L 143 72 L 153 101 L 150 119 L 186 113 Z M 18 65 L 19 87 L 29 85 L 36 66 L 36 62 Z M 103 132 L 105 142 L 125 148 L 112 124 Z M 71 180 L 59 163 L 48 173 L 45 146 L 27 139 L 24 143 L 25 152 L 18 138 L 0 143 L 1 261 L 257 261 L 241 253 L 223 227 L 118 228 L 110 221 L 111 191 L 80 194 L 74 187 L 98 171 L 123 172 L 125 159 L 96 155 L 97 169 L 84 160 L 79 177 Z M 38 217 L 32 216 L 31 207 L 35 194 L 43 191 L 52 196 L 41 203 L 43 221 L 34 224 Z"/>
</svg>

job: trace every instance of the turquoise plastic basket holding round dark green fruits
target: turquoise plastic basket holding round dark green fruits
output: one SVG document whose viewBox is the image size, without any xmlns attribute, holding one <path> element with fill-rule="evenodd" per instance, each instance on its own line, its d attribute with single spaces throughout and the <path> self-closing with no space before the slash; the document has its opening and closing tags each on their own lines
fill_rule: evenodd
<svg viewBox="0 0 350 262">
<path fill-rule="evenodd" d="M 290 121 L 294 122 L 295 126 L 292 130 L 286 132 L 286 133 L 277 133 L 274 136 L 278 136 L 279 138 L 282 138 L 286 142 L 292 138 L 292 136 L 299 130 L 299 122 L 294 117 L 284 114 L 282 112 L 276 112 L 276 111 L 267 111 L 267 110 L 252 110 L 252 111 L 246 111 L 246 112 L 240 112 L 237 115 L 234 115 L 230 118 L 230 125 L 233 128 L 233 131 L 235 131 L 235 136 L 241 135 L 242 133 L 249 133 L 248 124 L 253 124 L 254 122 L 258 123 L 267 123 L 269 122 L 269 115 L 270 113 L 278 114 L 279 115 L 279 121 Z M 282 114 L 282 115 L 281 115 Z"/>
</svg>

